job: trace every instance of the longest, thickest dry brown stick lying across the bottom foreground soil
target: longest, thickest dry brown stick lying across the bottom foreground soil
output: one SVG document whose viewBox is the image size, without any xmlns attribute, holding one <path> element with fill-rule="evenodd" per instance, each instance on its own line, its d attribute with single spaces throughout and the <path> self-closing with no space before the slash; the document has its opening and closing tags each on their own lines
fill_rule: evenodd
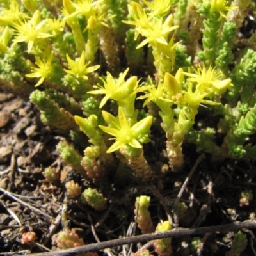
<svg viewBox="0 0 256 256">
<path fill-rule="evenodd" d="M 58 252 L 55 251 L 55 252 L 49 252 L 49 253 L 35 253 L 33 254 L 33 256 L 56 256 L 56 255 L 58 256 L 73 255 L 74 256 L 79 253 L 95 252 L 105 248 L 122 246 L 123 244 L 142 243 L 142 242 L 166 238 L 166 237 L 184 237 L 184 236 L 193 236 L 198 234 L 214 233 L 214 232 L 225 233 L 231 230 L 241 230 L 243 228 L 256 228 L 256 221 L 253 221 L 253 220 L 246 220 L 244 222 L 236 221 L 235 223 L 226 224 L 226 225 L 200 227 L 200 228 L 174 228 L 173 230 L 170 230 L 170 231 L 156 232 L 153 234 L 144 234 L 140 236 L 114 239 L 111 241 L 88 244 L 88 245 L 80 246 L 77 248 L 62 250 Z"/>
</svg>

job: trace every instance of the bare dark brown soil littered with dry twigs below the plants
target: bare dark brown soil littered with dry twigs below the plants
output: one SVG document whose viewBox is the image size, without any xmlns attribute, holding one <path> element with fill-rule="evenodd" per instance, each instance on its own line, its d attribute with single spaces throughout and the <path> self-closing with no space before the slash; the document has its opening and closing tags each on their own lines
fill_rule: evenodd
<svg viewBox="0 0 256 256">
<path fill-rule="evenodd" d="M 93 183 L 61 161 L 55 151 L 61 136 L 42 124 L 40 113 L 29 100 L 0 93 L 0 136 L 0 255 L 57 250 L 56 237 L 63 226 L 72 228 L 86 244 L 95 243 L 95 239 L 109 241 L 125 237 L 129 231 L 133 236 L 141 234 L 138 228 L 131 228 L 136 196 L 151 196 L 150 213 L 154 225 L 166 220 L 167 214 L 172 214 L 172 206 L 182 183 L 199 156 L 193 146 L 185 145 L 186 167 L 179 173 L 164 174 L 163 198 L 154 187 L 131 187 L 126 178 L 123 178 L 124 186 L 118 187 L 115 179 L 121 178 L 111 177 L 113 182 L 103 188 L 108 193 L 108 208 L 97 212 L 82 205 L 79 200 L 67 202 L 65 181 L 74 179 L 83 189 L 93 186 Z M 145 148 L 146 153 L 150 152 L 148 156 L 152 156 L 150 163 L 155 162 L 154 166 L 159 169 L 164 169 L 166 157 L 164 153 L 157 152 L 157 145 L 164 144 L 164 140 L 164 136 L 163 141 L 153 140 L 156 146 L 154 150 L 153 144 Z M 154 158 L 156 154 L 161 157 Z M 59 171 L 60 180 L 56 184 L 49 184 L 42 174 L 48 166 Z M 206 156 L 196 168 L 180 200 L 188 209 L 184 213 L 177 212 L 179 227 L 198 228 L 254 220 L 255 179 L 254 163 L 233 160 L 212 163 L 210 157 Z M 120 180 L 119 184 L 122 184 Z M 252 191 L 253 199 L 241 202 L 241 193 L 248 189 Z M 61 212 L 67 215 L 68 223 L 61 223 Z M 95 227 L 97 237 L 93 235 L 92 227 Z M 28 231 L 34 231 L 38 237 L 31 245 L 23 244 L 21 239 L 22 234 Z M 254 233 L 250 230 L 244 232 L 248 246 L 241 255 L 253 255 Z M 174 237 L 173 255 L 225 255 L 230 250 L 234 232 L 207 233 L 199 237 L 201 249 L 198 252 L 189 249 L 193 236 Z M 139 246 L 134 244 L 132 251 L 136 252 Z M 154 248 L 149 249 L 154 254 Z M 109 252 L 111 255 L 122 255 L 124 250 L 129 248 L 121 246 L 111 248 Z M 103 253 L 106 252 L 99 252 L 100 255 Z"/>
</svg>

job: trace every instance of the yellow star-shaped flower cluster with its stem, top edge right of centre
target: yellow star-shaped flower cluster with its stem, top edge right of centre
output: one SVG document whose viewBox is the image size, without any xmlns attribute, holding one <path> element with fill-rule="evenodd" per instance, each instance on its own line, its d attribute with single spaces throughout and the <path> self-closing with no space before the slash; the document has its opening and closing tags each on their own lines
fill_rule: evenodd
<svg viewBox="0 0 256 256">
<path fill-rule="evenodd" d="M 172 26 L 172 14 L 166 17 L 170 1 L 154 1 L 154 3 L 145 1 L 145 4 L 149 7 L 149 13 L 139 3 L 131 2 L 129 12 L 132 20 L 124 20 L 124 22 L 135 26 L 134 40 L 139 35 L 145 37 L 136 47 L 137 49 L 146 44 L 153 48 L 154 64 L 159 72 L 159 77 L 163 77 L 164 72 L 168 69 L 171 70 L 175 62 L 174 50 L 179 43 L 174 44 L 173 36 L 170 36 L 170 33 L 179 26 Z"/>
</svg>

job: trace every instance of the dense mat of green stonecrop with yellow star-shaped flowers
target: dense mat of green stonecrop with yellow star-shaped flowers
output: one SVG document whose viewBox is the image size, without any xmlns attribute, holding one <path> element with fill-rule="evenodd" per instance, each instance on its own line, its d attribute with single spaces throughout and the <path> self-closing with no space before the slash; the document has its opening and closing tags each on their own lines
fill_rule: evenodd
<svg viewBox="0 0 256 256">
<path fill-rule="evenodd" d="M 0 87 L 64 137 L 58 154 L 105 209 L 119 177 L 166 188 L 157 154 L 177 172 L 184 145 L 256 159 L 256 36 L 238 36 L 253 14 L 240 0 L 1 0 Z"/>
</svg>

